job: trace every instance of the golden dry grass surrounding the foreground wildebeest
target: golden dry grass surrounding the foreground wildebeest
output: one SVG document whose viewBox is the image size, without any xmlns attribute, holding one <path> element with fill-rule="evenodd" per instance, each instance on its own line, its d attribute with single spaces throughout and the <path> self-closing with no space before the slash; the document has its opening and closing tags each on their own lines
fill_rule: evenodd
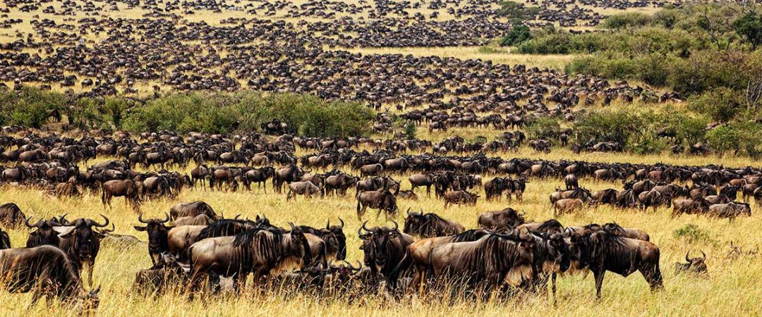
<svg viewBox="0 0 762 317">
<path fill-rule="evenodd" d="M 528 154 L 520 151 L 517 156 Z M 550 154 L 548 159 L 566 157 L 565 152 Z M 600 154 L 581 157 L 586 160 L 629 160 L 652 163 L 668 160 L 671 163 L 720 163 L 712 157 L 628 157 L 623 154 Z M 101 160 L 101 159 L 99 159 Z M 744 165 L 744 160 L 727 160 L 728 165 Z M 491 176 L 485 176 L 489 179 Z M 395 176 L 406 179 L 406 176 Z M 597 182 L 581 179 L 581 185 L 589 189 L 620 188 L 619 183 Z M 269 185 L 268 185 L 269 186 Z M 402 189 L 409 189 L 403 182 Z M 419 201 L 399 202 L 402 214 L 407 208 L 436 212 L 443 217 L 463 223 L 466 228 L 476 227 L 476 216 L 482 211 L 494 211 L 511 206 L 527 214 L 530 220 L 546 220 L 552 217 L 548 195 L 562 181 L 556 179 L 530 179 L 522 202 L 485 201 L 480 198 L 475 206 L 443 208 L 443 201 L 426 198 L 419 189 Z M 480 191 L 482 192 L 482 191 Z M 483 195 L 483 192 L 482 192 Z M 313 198 L 297 197 L 286 202 L 285 194 L 267 194 L 253 189 L 251 192 L 210 192 L 208 189 L 185 190 L 177 200 L 167 198 L 147 201 L 142 205 L 146 216 L 160 217 L 177 201 L 207 201 L 217 212 L 231 216 L 242 214 L 255 217 L 266 214 L 275 224 L 287 226 L 287 221 L 319 227 L 341 217 L 346 222 L 347 259 L 351 262 L 362 260 L 357 228 L 360 221 L 355 212 L 355 200 L 347 197 Z M 100 197 L 85 194 L 80 198 L 53 198 L 34 189 L 19 189 L 5 186 L 0 190 L 0 201 L 14 201 L 27 214 L 35 217 L 52 217 L 68 213 L 69 218 L 97 217 L 106 214 L 116 224 L 117 233 L 134 235 L 146 241 L 145 233 L 133 229 L 139 225 L 137 214 L 123 204 L 120 198 L 113 208 L 104 208 Z M 558 300 L 555 305 L 545 296 L 520 294 L 510 298 L 500 298 L 484 302 L 457 300 L 452 305 L 443 305 L 438 298 L 412 296 L 395 302 L 386 296 L 371 296 L 354 303 L 347 303 L 343 297 L 316 298 L 301 293 L 274 292 L 255 293 L 248 288 L 240 296 L 222 294 L 207 300 L 188 301 L 182 293 L 171 293 L 156 299 L 145 298 L 133 293 L 131 285 L 135 271 L 151 265 L 146 252 L 146 243 L 135 246 L 114 246 L 104 244 L 95 266 L 94 284 L 101 285 L 101 306 L 98 315 L 758 315 L 762 312 L 762 261 L 760 255 L 730 257 L 730 243 L 741 246 L 744 251 L 755 251 L 762 244 L 762 238 L 753 234 L 760 227 L 758 213 L 762 208 L 752 208 L 753 217 L 738 218 L 733 221 L 709 219 L 707 217 L 682 216 L 671 218 L 671 210 L 661 208 L 657 212 L 619 210 L 610 207 L 586 208 L 578 214 L 565 214 L 558 219 L 565 225 L 605 223 L 616 221 L 624 227 L 638 227 L 646 230 L 652 242 L 661 249 L 661 271 L 665 288 L 651 293 L 639 273 L 624 278 L 607 274 L 602 300 L 596 300 L 591 276 L 567 276 L 559 279 Z M 372 225 L 389 224 L 374 211 L 366 215 Z M 395 217 L 399 223 L 402 215 Z M 699 234 L 678 236 L 676 230 L 687 225 L 699 228 Z M 21 246 L 26 241 L 26 230 L 11 231 L 13 246 Z M 674 263 L 682 261 L 685 252 L 708 255 L 709 274 L 696 277 L 675 274 Z M 74 312 L 56 304 L 49 310 L 43 304 L 27 309 L 28 294 L 0 293 L 0 315 L 69 315 Z"/>
</svg>

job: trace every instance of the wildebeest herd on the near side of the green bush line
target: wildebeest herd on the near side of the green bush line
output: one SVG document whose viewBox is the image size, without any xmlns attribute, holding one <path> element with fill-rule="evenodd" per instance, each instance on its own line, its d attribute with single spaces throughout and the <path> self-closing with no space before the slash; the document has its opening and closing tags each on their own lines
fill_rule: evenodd
<svg viewBox="0 0 762 317">
<path fill-rule="evenodd" d="M 123 197 L 138 213 L 135 219 L 142 224 L 134 229 L 146 233 L 152 261 L 151 268 L 136 273 L 136 292 L 183 290 L 190 296 L 240 291 L 250 274 L 254 287 L 290 285 L 296 291 L 353 297 L 385 292 L 399 298 L 454 287 L 466 290 L 468 298 L 488 298 L 544 293 L 548 284 L 555 293 L 557 277 L 584 271 L 593 272 L 597 296 L 606 271 L 623 276 L 639 271 L 652 290 L 663 287 L 660 251 L 644 230 L 614 222 L 565 227 L 555 219 L 526 220 L 514 208 L 475 215 L 478 227 L 468 229 L 467 224 L 422 210 L 403 214 L 398 199 L 415 204 L 418 194 L 423 195 L 422 189 L 416 193 L 418 187 L 427 188 L 427 195 L 434 187 L 434 197 L 447 208 L 474 205 L 482 190 L 483 199 L 495 201 L 505 195 L 509 202 L 521 200 L 533 182 L 563 179 L 566 188 L 549 195 L 558 214 L 591 211 L 601 204 L 654 210 L 664 205 L 673 208 L 673 217 L 706 214 L 733 219 L 751 216 L 750 204 L 737 201 L 738 192 L 744 201 L 762 202 L 762 171 L 754 167 L 408 154 L 395 151 L 397 142 L 398 147 L 429 146 L 291 135 L 162 132 L 133 137 L 117 132 L 113 137 L 74 139 L 21 132 L 0 138 L 5 164 L 0 181 L 59 197 L 100 195 L 104 214 L 110 212 L 110 198 Z M 311 152 L 297 157 L 297 149 Z M 88 166 L 94 159 L 98 163 Z M 411 189 L 403 191 L 399 176 L 406 175 Z M 487 175 L 489 179 L 482 179 Z M 623 189 L 586 189 L 580 185 L 586 179 L 619 181 Z M 145 201 L 174 199 L 187 190 L 253 191 L 251 182 L 264 185 L 260 190 L 272 186 L 284 201 L 302 199 L 299 195 L 322 199 L 349 193 L 357 200 L 360 220 L 371 208 L 392 224 L 368 227 L 364 220 L 356 228 L 361 245 L 347 246 L 345 230 L 354 233 L 355 228 L 349 230 L 342 219 L 329 220 L 325 227 L 288 223 L 283 228 L 264 214 L 253 220 L 224 217 L 203 201 L 174 204 L 161 219 L 142 215 Z M 394 220 L 398 216 L 405 217 L 402 230 Z M 35 300 L 58 296 L 80 309 L 97 306 L 98 289 L 85 290 L 82 272 L 88 273 L 92 287 L 101 242 L 135 239 L 114 234 L 114 227 L 107 229 L 108 217 L 102 218 L 69 220 L 62 214 L 38 219 L 14 203 L 0 206 L 0 246 L 5 248 L 0 271 L 14 277 L 4 281 L 8 290 L 33 292 Z M 5 231 L 24 227 L 32 230 L 26 246 L 11 245 Z M 362 249 L 361 264 L 343 262 L 351 247 Z M 707 271 L 706 255 L 686 256 L 686 261 L 677 271 Z"/>
</svg>

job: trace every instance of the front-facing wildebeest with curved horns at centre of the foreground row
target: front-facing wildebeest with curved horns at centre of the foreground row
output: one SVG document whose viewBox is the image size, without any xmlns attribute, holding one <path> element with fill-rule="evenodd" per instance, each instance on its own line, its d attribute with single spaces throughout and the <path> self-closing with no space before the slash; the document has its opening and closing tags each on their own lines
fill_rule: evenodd
<svg viewBox="0 0 762 317">
<path fill-rule="evenodd" d="M 363 222 L 363 225 L 357 229 L 357 235 L 363 243 L 360 246 L 363 250 L 363 262 L 373 273 L 380 273 L 387 277 L 405 255 L 405 248 L 413 243 L 413 237 L 399 232 L 399 226 L 393 220 L 394 228 L 367 229 L 366 223 L 367 221 Z"/>
</svg>

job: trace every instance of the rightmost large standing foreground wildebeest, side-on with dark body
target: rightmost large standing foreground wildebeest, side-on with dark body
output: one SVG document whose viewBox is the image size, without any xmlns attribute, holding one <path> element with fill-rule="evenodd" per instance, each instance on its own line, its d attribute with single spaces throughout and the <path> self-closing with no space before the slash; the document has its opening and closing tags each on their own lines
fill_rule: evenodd
<svg viewBox="0 0 762 317">
<path fill-rule="evenodd" d="M 659 248 L 648 241 L 623 238 L 605 230 L 571 235 L 571 259 L 589 268 L 595 277 L 595 295 L 600 298 L 604 274 L 611 271 L 627 277 L 640 273 L 651 290 L 664 287 L 659 270 Z"/>
</svg>

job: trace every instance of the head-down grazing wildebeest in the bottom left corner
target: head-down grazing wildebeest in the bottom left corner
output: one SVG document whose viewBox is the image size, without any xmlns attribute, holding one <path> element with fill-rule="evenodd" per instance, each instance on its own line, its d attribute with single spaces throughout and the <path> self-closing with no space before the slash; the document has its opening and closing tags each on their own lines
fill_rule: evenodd
<svg viewBox="0 0 762 317">
<path fill-rule="evenodd" d="M 32 292 L 32 303 L 46 296 L 69 303 L 80 313 L 98 308 L 98 289 L 90 292 L 82 287 L 75 265 L 55 246 L 0 250 L 0 276 L 11 293 Z"/>
</svg>

